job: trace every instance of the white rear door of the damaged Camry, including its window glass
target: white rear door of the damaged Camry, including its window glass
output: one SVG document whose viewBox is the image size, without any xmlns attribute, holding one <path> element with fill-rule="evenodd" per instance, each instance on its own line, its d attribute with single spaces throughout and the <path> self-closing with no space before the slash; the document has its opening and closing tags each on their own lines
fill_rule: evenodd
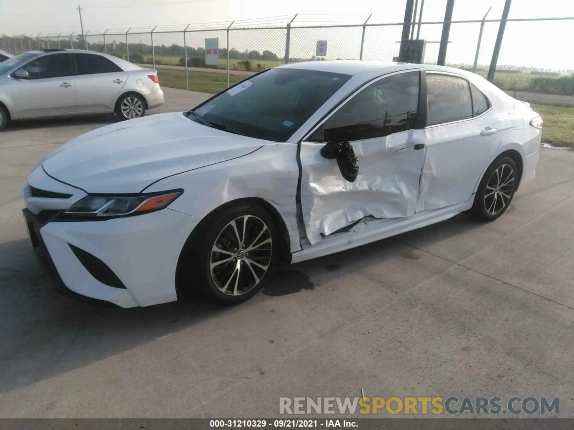
<svg viewBox="0 0 574 430">
<path fill-rule="evenodd" d="M 465 77 L 426 72 L 426 158 L 417 212 L 464 203 L 472 198 L 501 131 L 510 127 L 490 100 Z"/>
</svg>

